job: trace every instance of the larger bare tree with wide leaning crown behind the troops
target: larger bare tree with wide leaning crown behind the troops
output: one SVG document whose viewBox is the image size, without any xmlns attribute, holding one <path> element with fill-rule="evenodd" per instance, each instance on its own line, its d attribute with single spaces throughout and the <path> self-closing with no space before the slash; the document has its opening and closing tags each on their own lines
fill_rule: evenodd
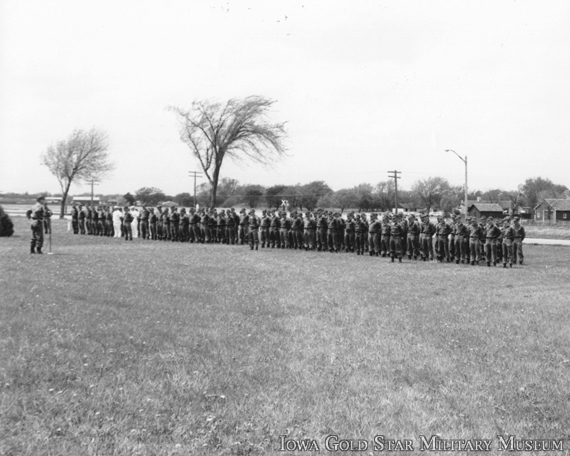
<svg viewBox="0 0 570 456">
<path fill-rule="evenodd" d="M 225 104 L 194 101 L 189 110 L 169 108 L 180 121 L 180 139 L 188 144 L 212 185 L 212 207 L 216 204 L 220 170 L 226 156 L 267 165 L 285 155 L 285 124 L 267 121 L 267 112 L 274 103 L 261 96 L 249 96 L 232 98 Z"/>
</svg>

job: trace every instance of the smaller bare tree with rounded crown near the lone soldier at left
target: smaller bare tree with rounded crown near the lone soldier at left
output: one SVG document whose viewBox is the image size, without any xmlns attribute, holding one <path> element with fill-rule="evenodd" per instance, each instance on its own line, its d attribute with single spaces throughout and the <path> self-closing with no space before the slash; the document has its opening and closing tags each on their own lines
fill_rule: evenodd
<svg viewBox="0 0 570 456">
<path fill-rule="evenodd" d="M 89 131 L 74 130 L 65 141 L 51 145 L 42 154 L 42 164 L 57 177 L 61 187 L 61 212 L 65 214 L 65 201 L 71 183 L 77 180 L 100 179 L 114 168 L 109 162 L 107 134 L 92 128 Z"/>
</svg>

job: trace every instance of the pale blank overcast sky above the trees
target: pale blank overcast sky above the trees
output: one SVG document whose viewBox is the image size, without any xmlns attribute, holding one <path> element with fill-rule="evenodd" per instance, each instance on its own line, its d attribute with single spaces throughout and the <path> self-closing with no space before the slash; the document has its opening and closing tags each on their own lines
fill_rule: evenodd
<svg viewBox="0 0 570 456">
<path fill-rule="evenodd" d="M 570 187 L 570 2 L 0 0 L 0 191 L 58 192 L 40 155 L 110 138 L 100 193 L 191 191 L 170 105 L 262 95 L 289 157 L 241 183 L 334 190 L 442 176 Z M 73 185 L 71 194 L 87 191 Z"/>
</svg>

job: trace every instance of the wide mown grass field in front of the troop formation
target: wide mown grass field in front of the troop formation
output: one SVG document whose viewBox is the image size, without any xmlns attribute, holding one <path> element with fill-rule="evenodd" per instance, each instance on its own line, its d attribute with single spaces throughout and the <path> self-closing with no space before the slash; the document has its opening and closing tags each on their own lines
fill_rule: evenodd
<svg viewBox="0 0 570 456">
<path fill-rule="evenodd" d="M 570 438 L 568 248 L 528 246 L 513 269 L 392 264 L 54 220 L 54 254 L 30 255 L 13 220 L 2 455 L 287 454 L 280 435 L 334 454 L 332 434 L 370 443 L 349 454 L 380 434 L 415 453 L 420 435 L 487 438 L 501 454 L 497 434 Z"/>
</svg>

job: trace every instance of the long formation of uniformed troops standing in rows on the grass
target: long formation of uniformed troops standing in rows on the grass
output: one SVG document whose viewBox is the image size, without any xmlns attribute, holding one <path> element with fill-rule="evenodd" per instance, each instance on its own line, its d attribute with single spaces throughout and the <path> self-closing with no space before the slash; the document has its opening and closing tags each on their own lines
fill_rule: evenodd
<svg viewBox="0 0 570 456">
<path fill-rule="evenodd" d="M 487 266 L 503 263 L 523 264 L 524 227 L 519 217 L 498 220 L 481 217 L 478 222 L 460 216 L 416 218 L 409 214 L 340 213 L 317 209 L 307 211 L 254 209 L 239 214 L 234 208 L 217 211 L 190 208 L 117 208 L 120 231 L 125 240 L 134 231 L 142 239 L 172 242 L 249 244 L 251 250 L 261 248 L 348 252 L 357 255 L 389 257 L 392 262 L 407 255 L 408 259 L 453 262 Z M 133 215 L 135 214 L 135 215 Z M 75 234 L 113 236 L 113 214 L 110 207 L 75 207 L 72 224 Z M 118 233 L 116 233 L 118 234 Z"/>
</svg>

